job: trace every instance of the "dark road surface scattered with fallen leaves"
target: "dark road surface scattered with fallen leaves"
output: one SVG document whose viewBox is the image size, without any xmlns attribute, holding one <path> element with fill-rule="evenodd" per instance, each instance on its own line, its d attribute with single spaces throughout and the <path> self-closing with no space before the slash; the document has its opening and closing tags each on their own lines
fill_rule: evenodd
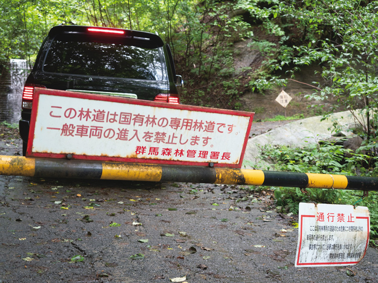
<svg viewBox="0 0 378 283">
<path fill-rule="evenodd" d="M 21 142 L 2 129 L 3 155 Z M 263 188 L 0 176 L 0 282 L 377 282 L 354 266 L 296 268 L 293 215 Z"/>
</svg>

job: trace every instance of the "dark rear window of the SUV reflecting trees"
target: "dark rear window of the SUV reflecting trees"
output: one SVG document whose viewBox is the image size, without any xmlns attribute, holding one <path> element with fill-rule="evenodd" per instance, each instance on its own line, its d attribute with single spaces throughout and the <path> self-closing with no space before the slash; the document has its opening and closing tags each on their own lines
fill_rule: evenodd
<svg viewBox="0 0 378 283">
<path fill-rule="evenodd" d="M 57 35 L 43 71 L 89 76 L 162 80 L 162 51 L 145 39 Z"/>
</svg>

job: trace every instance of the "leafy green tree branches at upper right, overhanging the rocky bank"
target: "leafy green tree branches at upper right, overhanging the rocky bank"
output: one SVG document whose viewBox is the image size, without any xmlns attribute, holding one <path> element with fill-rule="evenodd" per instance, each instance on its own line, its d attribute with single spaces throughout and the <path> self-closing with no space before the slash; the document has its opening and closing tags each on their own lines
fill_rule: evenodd
<svg viewBox="0 0 378 283">
<path fill-rule="evenodd" d="M 284 32 L 272 70 L 286 65 L 294 72 L 303 65 L 320 64 L 324 82 L 308 97 L 333 98 L 335 108 L 343 105 L 354 116 L 362 113 L 363 119 L 357 121 L 370 156 L 378 155 L 373 146 L 378 125 L 377 9 L 377 2 L 369 0 L 287 0 L 267 9 L 278 15 L 274 21 Z M 276 80 L 265 76 L 256 87 Z"/>
</svg>

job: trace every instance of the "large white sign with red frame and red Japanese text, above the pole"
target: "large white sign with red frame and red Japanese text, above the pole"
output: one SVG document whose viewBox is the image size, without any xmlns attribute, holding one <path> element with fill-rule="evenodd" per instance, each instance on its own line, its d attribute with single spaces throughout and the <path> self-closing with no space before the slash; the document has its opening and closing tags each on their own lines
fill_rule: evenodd
<svg viewBox="0 0 378 283">
<path fill-rule="evenodd" d="M 253 119 L 253 113 L 47 89 L 37 102 L 29 156 L 241 166 Z"/>
</svg>

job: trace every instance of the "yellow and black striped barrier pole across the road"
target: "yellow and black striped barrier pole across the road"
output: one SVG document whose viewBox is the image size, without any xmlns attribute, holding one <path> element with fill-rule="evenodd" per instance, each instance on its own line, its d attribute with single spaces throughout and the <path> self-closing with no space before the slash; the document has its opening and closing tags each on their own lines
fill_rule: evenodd
<svg viewBox="0 0 378 283">
<path fill-rule="evenodd" d="M 378 178 L 220 167 L 157 165 L 0 155 L 1 175 L 245 184 L 378 191 Z"/>
</svg>

